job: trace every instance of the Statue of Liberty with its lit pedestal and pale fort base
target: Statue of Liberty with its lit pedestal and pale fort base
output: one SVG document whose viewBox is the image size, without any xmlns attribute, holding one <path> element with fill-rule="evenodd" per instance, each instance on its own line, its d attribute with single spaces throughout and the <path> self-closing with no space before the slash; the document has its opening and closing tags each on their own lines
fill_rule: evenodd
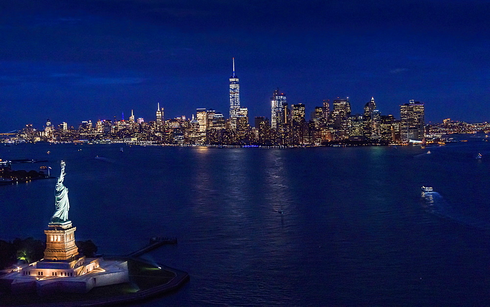
<svg viewBox="0 0 490 307">
<path fill-rule="evenodd" d="M 94 287 L 127 283 L 127 261 L 86 258 L 78 255 L 75 245 L 75 230 L 68 219 L 70 202 L 64 185 L 64 161 L 56 182 L 55 212 L 48 224 L 44 259 L 19 266 L 1 277 L 2 284 L 14 293 L 52 292 L 85 293 Z"/>
</svg>

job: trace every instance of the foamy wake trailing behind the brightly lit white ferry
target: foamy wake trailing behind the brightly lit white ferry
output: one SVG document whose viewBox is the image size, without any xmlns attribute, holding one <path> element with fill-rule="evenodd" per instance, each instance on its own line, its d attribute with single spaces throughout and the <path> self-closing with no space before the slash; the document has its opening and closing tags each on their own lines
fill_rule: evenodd
<svg viewBox="0 0 490 307">
<path fill-rule="evenodd" d="M 468 228 L 490 230 L 490 221 L 468 216 L 463 210 L 458 210 L 451 205 L 438 192 L 422 192 L 422 207 L 429 213 L 450 219 Z"/>
</svg>

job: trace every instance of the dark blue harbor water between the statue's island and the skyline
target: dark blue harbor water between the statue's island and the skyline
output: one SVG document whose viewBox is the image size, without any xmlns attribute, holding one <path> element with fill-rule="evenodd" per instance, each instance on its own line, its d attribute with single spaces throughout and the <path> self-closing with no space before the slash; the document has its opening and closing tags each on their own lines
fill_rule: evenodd
<svg viewBox="0 0 490 307">
<path fill-rule="evenodd" d="M 55 176 L 65 161 L 75 237 L 99 253 L 177 237 L 144 258 L 191 280 L 148 306 L 490 301 L 490 145 L 481 139 L 426 149 L 37 143 L 0 146 L 0 158 L 48 160 L 12 166 L 42 164 Z M 44 239 L 54 185 L 0 187 L 0 239 Z"/>
</svg>

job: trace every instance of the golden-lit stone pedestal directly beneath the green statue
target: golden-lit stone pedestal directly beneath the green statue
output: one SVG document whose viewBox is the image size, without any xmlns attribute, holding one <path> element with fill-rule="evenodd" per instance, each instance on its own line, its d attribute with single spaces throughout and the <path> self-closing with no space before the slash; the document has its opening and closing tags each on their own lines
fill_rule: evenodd
<svg viewBox="0 0 490 307">
<path fill-rule="evenodd" d="M 78 255 L 75 245 L 75 230 L 71 221 L 64 223 L 49 223 L 49 229 L 45 230 L 46 249 L 45 260 L 74 260 Z"/>
</svg>

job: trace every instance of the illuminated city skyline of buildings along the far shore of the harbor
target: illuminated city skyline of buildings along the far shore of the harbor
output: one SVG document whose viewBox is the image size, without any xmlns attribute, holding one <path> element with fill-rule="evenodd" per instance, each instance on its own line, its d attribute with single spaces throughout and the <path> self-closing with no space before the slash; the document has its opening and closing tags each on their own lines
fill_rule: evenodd
<svg viewBox="0 0 490 307">
<path fill-rule="evenodd" d="M 76 127 L 66 122 L 54 126 L 48 120 L 44 130 L 31 124 L 17 134 L 17 139 L 36 141 L 145 141 L 161 144 L 227 144 L 318 146 L 333 143 L 364 145 L 390 142 L 421 142 L 426 135 L 441 136 L 443 132 L 489 130 L 488 124 L 472 125 L 445 119 L 442 125 L 425 125 L 424 104 L 410 100 L 400 106 L 400 120 L 383 115 L 374 97 L 364 105 L 362 114 L 353 114 L 347 98 L 324 99 L 313 107 L 306 118 L 307 105 L 288 104 L 286 95 L 277 88 L 270 98 L 270 118 L 255 117 L 249 124 L 248 108 L 240 102 L 240 84 L 232 58 L 229 78 L 229 118 L 211 108 L 196 109 L 192 119 L 181 116 L 165 120 L 164 108 L 157 103 L 155 120 L 135 120 L 131 110 L 129 120 L 99 119 L 81 121 Z M 265 103 L 265 101 L 264 101 Z"/>
</svg>

